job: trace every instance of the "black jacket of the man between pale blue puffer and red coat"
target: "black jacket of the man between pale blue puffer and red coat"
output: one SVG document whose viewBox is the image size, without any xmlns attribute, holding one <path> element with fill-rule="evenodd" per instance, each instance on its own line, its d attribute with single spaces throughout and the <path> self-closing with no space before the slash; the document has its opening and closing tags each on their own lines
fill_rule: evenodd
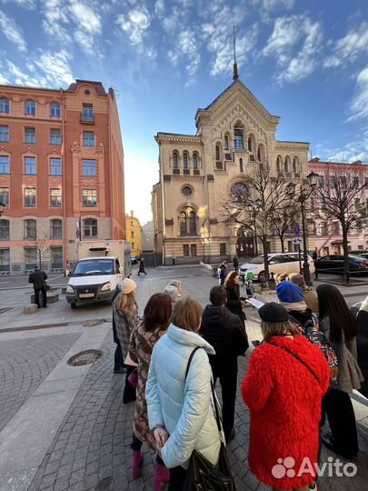
<svg viewBox="0 0 368 491">
<path fill-rule="evenodd" d="M 224 306 L 206 306 L 199 334 L 214 346 L 215 355 L 209 355 L 216 372 L 237 371 L 237 357 L 248 349 L 244 325 Z"/>
</svg>

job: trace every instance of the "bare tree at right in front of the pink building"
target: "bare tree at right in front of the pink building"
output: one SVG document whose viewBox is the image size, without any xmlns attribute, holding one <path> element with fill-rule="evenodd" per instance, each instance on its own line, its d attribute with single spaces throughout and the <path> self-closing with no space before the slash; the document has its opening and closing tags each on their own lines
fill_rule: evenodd
<svg viewBox="0 0 368 491">
<path fill-rule="evenodd" d="M 368 217 L 368 204 L 364 195 L 368 182 L 362 179 L 362 176 L 353 175 L 348 165 L 329 165 L 314 190 L 314 201 L 319 202 L 316 203 L 319 205 L 319 217 L 327 223 L 333 219 L 340 222 L 343 235 L 343 280 L 346 283 L 349 282 L 348 235 Z"/>
</svg>

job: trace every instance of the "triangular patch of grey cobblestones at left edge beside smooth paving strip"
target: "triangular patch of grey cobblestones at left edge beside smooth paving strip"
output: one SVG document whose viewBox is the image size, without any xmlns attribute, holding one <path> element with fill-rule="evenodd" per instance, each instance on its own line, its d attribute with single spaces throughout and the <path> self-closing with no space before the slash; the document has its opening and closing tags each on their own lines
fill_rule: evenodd
<svg viewBox="0 0 368 491">
<path fill-rule="evenodd" d="M 80 335 L 45 336 L 0 344 L 0 431 L 54 370 Z"/>
</svg>

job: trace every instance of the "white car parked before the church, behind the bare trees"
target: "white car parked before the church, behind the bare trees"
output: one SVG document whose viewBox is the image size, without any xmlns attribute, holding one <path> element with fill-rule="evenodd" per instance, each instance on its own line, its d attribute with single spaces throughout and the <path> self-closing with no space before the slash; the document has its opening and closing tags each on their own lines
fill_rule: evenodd
<svg viewBox="0 0 368 491">
<path fill-rule="evenodd" d="M 309 270 L 314 272 L 314 263 L 311 256 L 308 256 Z M 299 254 L 298 253 L 269 253 L 268 266 L 270 275 L 274 273 L 299 273 Z M 303 254 L 302 254 L 303 267 Z M 264 276 L 264 255 L 255 256 L 249 261 L 240 266 L 239 276 L 245 276 L 247 273 L 253 273 L 255 280 L 261 280 Z"/>
</svg>

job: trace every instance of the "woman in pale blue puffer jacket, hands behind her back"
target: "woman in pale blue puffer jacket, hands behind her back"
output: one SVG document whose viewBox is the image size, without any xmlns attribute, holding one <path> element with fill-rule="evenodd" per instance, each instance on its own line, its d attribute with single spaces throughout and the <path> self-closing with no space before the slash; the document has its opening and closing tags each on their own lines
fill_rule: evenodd
<svg viewBox="0 0 368 491">
<path fill-rule="evenodd" d="M 174 306 L 172 324 L 154 346 L 145 397 L 157 450 L 170 468 L 169 491 L 181 491 L 194 448 L 217 465 L 221 436 L 214 417 L 211 366 L 214 348 L 197 334 L 202 306 L 183 297 Z M 188 375 L 185 372 L 192 358 Z"/>
</svg>

